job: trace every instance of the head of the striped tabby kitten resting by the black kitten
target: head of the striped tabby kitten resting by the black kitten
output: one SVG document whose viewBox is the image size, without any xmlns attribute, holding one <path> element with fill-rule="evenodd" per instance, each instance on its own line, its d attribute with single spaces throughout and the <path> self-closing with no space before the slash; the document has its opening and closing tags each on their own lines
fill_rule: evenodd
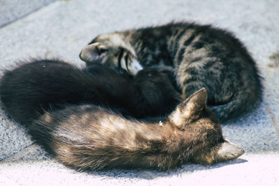
<svg viewBox="0 0 279 186">
<path fill-rule="evenodd" d="M 85 61 L 87 66 L 101 63 L 120 72 L 126 71 L 130 75 L 136 75 L 142 70 L 133 48 L 117 33 L 102 34 L 94 38 L 82 49 L 80 59 Z"/>
</svg>

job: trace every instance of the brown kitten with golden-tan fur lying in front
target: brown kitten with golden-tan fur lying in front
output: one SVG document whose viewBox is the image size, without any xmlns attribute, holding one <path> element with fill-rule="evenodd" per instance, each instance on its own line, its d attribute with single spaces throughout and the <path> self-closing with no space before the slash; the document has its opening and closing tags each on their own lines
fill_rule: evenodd
<svg viewBox="0 0 279 186">
<path fill-rule="evenodd" d="M 235 159 L 243 148 L 225 140 L 206 108 L 202 88 L 164 120 L 127 120 L 93 104 L 45 112 L 29 127 L 34 139 L 59 162 L 79 171 L 175 169 L 186 162 L 213 164 Z"/>
</svg>

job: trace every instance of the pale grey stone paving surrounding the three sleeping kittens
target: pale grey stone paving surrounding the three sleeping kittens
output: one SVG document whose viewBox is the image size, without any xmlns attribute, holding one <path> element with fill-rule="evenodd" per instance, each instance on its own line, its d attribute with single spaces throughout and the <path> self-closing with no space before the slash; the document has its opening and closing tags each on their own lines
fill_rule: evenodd
<svg viewBox="0 0 279 186">
<path fill-rule="evenodd" d="M 79 173 L 50 158 L 0 102 L 0 185 L 279 185 L 278 0 L 35 2 L 0 2 L 0 69 L 31 57 L 82 66 L 80 49 L 99 33 L 186 20 L 228 29 L 244 42 L 265 79 L 264 100 L 248 116 L 222 125 L 225 137 L 246 150 L 237 160 L 168 172 L 96 173 Z"/>
</svg>

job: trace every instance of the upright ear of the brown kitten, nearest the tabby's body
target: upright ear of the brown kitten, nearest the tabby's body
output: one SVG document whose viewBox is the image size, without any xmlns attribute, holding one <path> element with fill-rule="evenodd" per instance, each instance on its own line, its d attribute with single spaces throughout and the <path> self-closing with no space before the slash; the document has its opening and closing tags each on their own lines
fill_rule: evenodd
<svg viewBox="0 0 279 186">
<path fill-rule="evenodd" d="M 197 111 L 202 111 L 206 108 L 207 91 L 206 88 L 202 88 L 199 91 L 190 95 L 188 99 L 183 101 L 180 105 L 180 109 L 183 112 L 184 117 L 190 117 Z"/>
</svg>

